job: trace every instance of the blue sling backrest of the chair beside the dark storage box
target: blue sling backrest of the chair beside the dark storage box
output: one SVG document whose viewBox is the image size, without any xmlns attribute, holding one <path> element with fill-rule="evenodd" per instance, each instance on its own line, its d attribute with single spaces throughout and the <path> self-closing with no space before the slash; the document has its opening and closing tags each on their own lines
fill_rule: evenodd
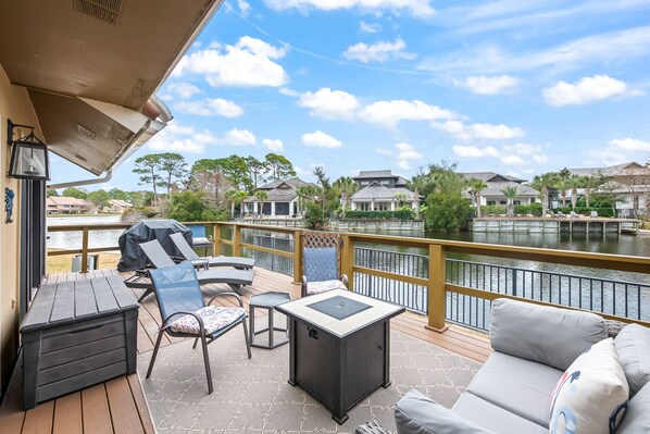
<svg viewBox="0 0 650 434">
<path fill-rule="evenodd" d="M 176 312 L 193 312 L 205 306 L 197 272 L 190 262 L 151 270 L 150 273 L 163 320 Z"/>
</svg>

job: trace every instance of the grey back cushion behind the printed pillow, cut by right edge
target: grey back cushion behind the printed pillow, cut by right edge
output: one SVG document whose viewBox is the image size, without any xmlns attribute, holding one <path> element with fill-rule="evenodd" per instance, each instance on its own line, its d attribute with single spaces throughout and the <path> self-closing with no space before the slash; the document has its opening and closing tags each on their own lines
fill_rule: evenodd
<svg viewBox="0 0 650 434">
<path fill-rule="evenodd" d="M 629 324 L 618 333 L 614 344 L 632 397 L 650 381 L 650 328 Z"/>
</svg>

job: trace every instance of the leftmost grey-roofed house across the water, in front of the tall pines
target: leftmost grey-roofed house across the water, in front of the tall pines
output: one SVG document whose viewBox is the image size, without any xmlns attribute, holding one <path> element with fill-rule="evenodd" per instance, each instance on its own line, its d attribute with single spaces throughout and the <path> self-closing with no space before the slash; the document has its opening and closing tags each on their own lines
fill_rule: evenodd
<svg viewBox="0 0 650 434">
<path fill-rule="evenodd" d="M 298 177 L 289 179 L 276 179 L 258 188 L 266 191 L 268 197 L 264 199 L 260 210 L 260 200 L 250 196 L 243 201 L 243 210 L 247 214 L 277 218 L 277 216 L 300 216 L 302 209 L 298 200 L 297 188 L 303 185 L 313 185 Z"/>
</svg>

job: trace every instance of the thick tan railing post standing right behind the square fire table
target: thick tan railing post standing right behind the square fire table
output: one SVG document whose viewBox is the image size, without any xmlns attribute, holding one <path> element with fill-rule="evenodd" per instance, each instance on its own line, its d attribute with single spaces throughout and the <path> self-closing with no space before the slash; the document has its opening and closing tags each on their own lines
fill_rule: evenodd
<svg viewBox="0 0 650 434">
<path fill-rule="evenodd" d="M 448 327 L 445 323 L 445 247 L 435 244 L 429 245 L 428 325 L 426 327 L 439 333 L 445 332 Z"/>
</svg>

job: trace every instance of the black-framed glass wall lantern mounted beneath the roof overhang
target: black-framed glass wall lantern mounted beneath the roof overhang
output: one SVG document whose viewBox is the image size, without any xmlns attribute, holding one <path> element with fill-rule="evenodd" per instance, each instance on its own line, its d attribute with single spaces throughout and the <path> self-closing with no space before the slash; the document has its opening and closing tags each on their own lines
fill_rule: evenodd
<svg viewBox="0 0 650 434">
<path fill-rule="evenodd" d="M 34 127 L 7 121 L 7 141 L 11 145 L 9 176 L 21 179 L 50 181 L 50 158 L 46 144 L 34 135 Z M 13 128 L 29 128 L 32 133 L 17 140 L 13 139 Z"/>
</svg>

